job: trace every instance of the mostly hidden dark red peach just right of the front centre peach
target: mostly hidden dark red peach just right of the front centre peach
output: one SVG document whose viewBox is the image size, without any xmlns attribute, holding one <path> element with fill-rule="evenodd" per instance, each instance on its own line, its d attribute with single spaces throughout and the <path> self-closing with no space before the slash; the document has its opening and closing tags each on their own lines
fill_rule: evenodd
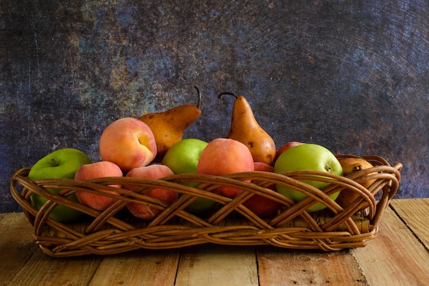
<svg viewBox="0 0 429 286">
<path fill-rule="evenodd" d="M 274 167 L 267 163 L 255 162 L 254 166 L 255 171 L 274 172 Z M 267 188 L 276 192 L 274 184 L 269 185 Z M 247 207 L 247 209 L 253 211 L 256 216 L 260 216 L 261 218 L 265 216 L 272 216 L 278 211 L 278 209 L 280 209 L 280 207 L 282 207 L 281 203 L 270 200 L 269 198 L 260 196 L 258 194 L 255 194 L 254 196 L 247 199 L 243 205 Z"/>
</svg>

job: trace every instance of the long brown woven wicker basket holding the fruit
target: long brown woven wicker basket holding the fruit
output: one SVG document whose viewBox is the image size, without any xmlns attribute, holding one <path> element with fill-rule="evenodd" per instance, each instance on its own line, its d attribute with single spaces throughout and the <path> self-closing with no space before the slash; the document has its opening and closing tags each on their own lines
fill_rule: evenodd
<svg viewBox="0 0 429 286">
<path fill-rule="evenodd" d="M 337 155 L 339 159 L 357 157 Z M 13 174 L 10 191 L 25 216 L 34 227 L 36 244 L 52 257 L 79 255 L 110 255 L 138 248 L 181 248 L 196 244 L 225 244 L 237 246 L 271 245 L 279 248 L 321 249 L 326 251 L 365 246 L 378 233 L 384 209 L 397 191 L 402 164 L 390 166 L 376 155 L 363 156 L 373 168 L 342 177 L 310 170 L 275 174 L 271 172 L 243 172 L 225 176 L 177 174 L 163 179 L 109 177 L 89 181 L 45 179 L 29 181 L 29 168 Z M 252 180 L 250 183 L 249 180 Z M 318 190 L 302 180 L 329 183 Z M 368 187 L 363 183 L 371 182 Z M 197 182 L 189 187 L 183 182 Z M 136 185 L 129 191 L 108 185 Z M 295 203 L 267 188 L 278 184 L 306 194 L 307 198 Z M 365 184 L 364 184 L 365 185 Z M 238 187 L 243 192 L 236 198 L 216 194 L 220 186 Z M 47 189 L 61 189 L 53 194 Z M 172 205 L 145 196 L 154 188 L 173 190 L 179 198 Z M 341 207 L 330 195 L 351 190 L 358 194 L 350 205 Z M 114 190 L 108 194 L 103 190 Z M 110 196 L 117 201 L 104 211 L 96 211 L 67 196 L 90 192 Z M 40 210 L 30 200 L 32 194 L 47 198 Z M 278 201 L 282 207 L 273 216 L 260 218 L 243 203 L 254 195 Z M 217 206 L 205 213 L 189 213 L 185 208 L 197 198 L 215 200 Z M 127 203 L 138 203 L 161 209 L 153 220 L 135 218 L 127 211 Z M 315 203 L 326 209 L 308 212 Z M 61 223 L 49 218 L 57 205 L 65 205 L 86 215 L 79 222 Z M 365 209 L 364 211 L 360 211 Z"/>
</svg>

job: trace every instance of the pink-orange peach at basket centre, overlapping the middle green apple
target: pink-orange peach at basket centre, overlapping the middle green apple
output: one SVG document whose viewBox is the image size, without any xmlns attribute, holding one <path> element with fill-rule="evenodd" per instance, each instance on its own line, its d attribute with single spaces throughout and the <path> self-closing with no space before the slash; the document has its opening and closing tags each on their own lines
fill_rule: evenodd
<svg viewBox="0 0 429 286">
<path fill-rule="evenodd" d="M 199 156 L 197 174 L 221 176 L 254 170 L 254 160 L 249 148 L 232 139 L 217 138 L 210 141 Z M 243 190 L 236 187 L 222 186 L 217 192 L 228 198 L 234 198 Z"/>
</svg>

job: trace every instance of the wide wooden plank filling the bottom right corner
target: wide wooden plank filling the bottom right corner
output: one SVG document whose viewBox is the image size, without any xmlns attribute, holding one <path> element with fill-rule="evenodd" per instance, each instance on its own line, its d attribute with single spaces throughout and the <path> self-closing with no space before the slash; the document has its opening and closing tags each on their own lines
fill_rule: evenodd
<svg viewBox="0 0 429 286">
<path fill-rule="evenodd" d="M 390 208 L 376 237 L 352 253 L 369 285 L 428 284 L 429 252 Z"/>
</svg>

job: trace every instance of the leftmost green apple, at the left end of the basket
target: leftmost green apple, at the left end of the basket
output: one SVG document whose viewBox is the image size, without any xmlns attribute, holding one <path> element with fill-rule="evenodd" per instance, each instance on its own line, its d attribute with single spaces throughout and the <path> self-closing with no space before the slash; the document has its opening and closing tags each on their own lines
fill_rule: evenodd
<svg viewBox="0 0 429 286">
<path fill-rule="evenodd" d="M 80 166 L 91 163 L 91 159 L 82 151 L 74 148 L 60 149 L 38 160 L 29 171 L 28 179 L 29 181 L 38 181 L 42 179 L 74 179 L 75 172 Z M 60 189 L 48 190 L 54 194 L 60 192 Z M 74 194 L 67 198 L 78 202 Z M 40 207 L 47 202 L 47 198 L 43 198 L 37 194 L 32 194 L 30 199 L 36 209 L 40 209 Z M 64 205 L 57 205 L 49 214 L 50 218 L 58 222 L 73 222 L 82 216 L 84 216 L 84 213 Z"/>
</svg>

